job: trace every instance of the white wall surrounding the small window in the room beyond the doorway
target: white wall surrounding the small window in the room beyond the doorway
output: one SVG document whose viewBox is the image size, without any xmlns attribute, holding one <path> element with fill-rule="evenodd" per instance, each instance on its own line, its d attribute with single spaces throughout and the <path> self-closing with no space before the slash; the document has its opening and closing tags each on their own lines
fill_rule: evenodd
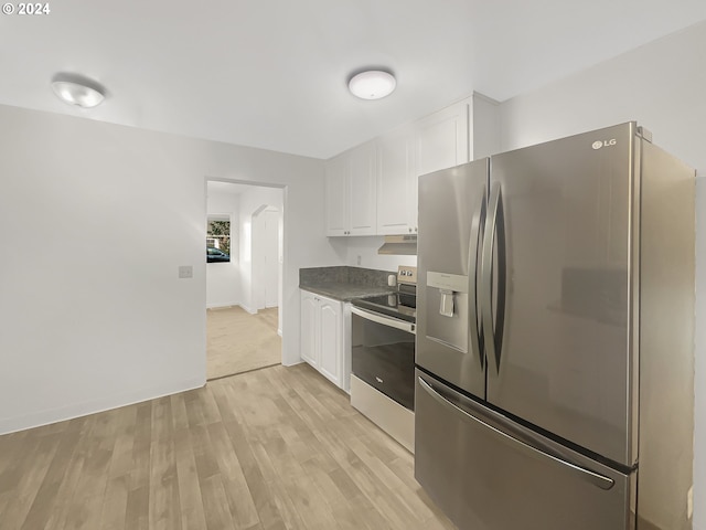
<svg viewBox="0 0 706 530">
<path fill-rule="evenodd" d="M 235 186 L 235 184 L 233 184 Z M 206 307 L 236 306 L 240 303 L 240 278 L 238 274 L 238 204 L 239 195 L 232 191 L 206 190 L 206 212 L 225 214 L 231 220 L 229 263 L 206 263 Z"/>
</svg>

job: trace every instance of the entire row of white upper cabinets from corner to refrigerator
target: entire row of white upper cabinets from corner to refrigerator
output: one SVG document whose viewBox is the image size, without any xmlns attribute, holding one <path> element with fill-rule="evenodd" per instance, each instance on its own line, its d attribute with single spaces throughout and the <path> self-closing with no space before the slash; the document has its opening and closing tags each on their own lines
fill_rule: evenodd
<svg viewBox="0 0 706 530">
<path fill-rule="evenodd" d="M 417 179 L 472 158 L 473 112 L 469 97 L 329 160 L 327 235 L 416 234 Z"/>
</svg>

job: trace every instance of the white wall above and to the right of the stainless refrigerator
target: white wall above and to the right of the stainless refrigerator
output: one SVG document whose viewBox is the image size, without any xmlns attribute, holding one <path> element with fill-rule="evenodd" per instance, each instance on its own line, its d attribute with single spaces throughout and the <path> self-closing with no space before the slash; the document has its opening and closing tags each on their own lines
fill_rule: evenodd
<svg viewBox="0 0 706 530">
<path fill-rule="evenodd" d="M 503 150 L 629 120 L 706 174 L 706 23 L 696 24 L 501 106 Z M 706 530 L 706 199 L 697 179 L 694 529 Z"/>
</svg>

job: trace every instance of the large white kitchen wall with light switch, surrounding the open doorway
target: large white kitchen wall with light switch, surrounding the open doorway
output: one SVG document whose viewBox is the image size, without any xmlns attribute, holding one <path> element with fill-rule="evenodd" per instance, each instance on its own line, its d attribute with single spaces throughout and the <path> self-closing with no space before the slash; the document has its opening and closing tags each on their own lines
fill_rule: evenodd
<svg viewBox="0 0 706 530">
<path fill-rule="evenodd" d="M 341 264 L 323 162 L 8 106 L 0 124 L 0 433 L 204 384 L 206 179 L 285 187 L 299 361 L 299 267 Z"/>
</svg>

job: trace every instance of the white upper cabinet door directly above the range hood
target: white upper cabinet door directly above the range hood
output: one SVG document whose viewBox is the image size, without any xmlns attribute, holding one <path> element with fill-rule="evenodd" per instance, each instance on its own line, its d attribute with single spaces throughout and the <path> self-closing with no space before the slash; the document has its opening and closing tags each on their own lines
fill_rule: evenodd
<svg viewBox="0 0 706 530">
<path fill-rule="evenodd" d="M 415 220 L 411 194 L 411 134 L 382 138 L 377 144 L 377 233 L 409 234 Z"/>
</svg>

